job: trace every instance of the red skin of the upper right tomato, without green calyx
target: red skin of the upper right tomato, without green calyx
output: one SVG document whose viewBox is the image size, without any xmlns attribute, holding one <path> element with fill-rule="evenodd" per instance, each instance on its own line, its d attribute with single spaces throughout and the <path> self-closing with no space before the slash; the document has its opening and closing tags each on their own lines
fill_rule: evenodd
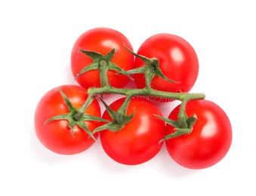
<svg viewBox="0 0 256 196">
<path fill-rule="evenodd" d="M 137 54 L 159 60 L 159 68 L 162 73 L 172 81 L 166 81 L 159 76 L 153 78 L 151 87 L 155 90 L 166 92 L 184 92 L 191 90 L 199 73 L 199 61 L 193 47 L 184 38 L 168 33 L 160 33 L 147 38 L 140 45 Z M 135 57 L 134 68 L 143 66 L 140 58 Z M 134 75 L 137 87 L 145 87 L 145 78 L 142 74 Z M 158 101 L 169 101 L 167 99 L 153 98 Z"/>
</svg>

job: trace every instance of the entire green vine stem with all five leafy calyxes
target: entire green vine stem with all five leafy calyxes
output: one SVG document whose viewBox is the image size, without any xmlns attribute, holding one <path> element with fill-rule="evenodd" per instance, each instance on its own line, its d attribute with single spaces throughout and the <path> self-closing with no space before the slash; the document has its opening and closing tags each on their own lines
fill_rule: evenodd
<svg viewBox="0 0 256 196">
<path fill-rule="evenodd" d="M 100 70 L 100 87 L 88 88 L 88 99 L 85 101 L 83 106 L 80 107 L 79 109 L 75 109 L 71 105 L 69 100 L 66 98 L 66 96 L 62 92 L 60 92 L 62 93 L 63 99 L 65 100 L 66 104 L 68 104 L 69 106 L 70 113 L 51 118 L 48 121 L 66 119 L 69 121 L 69 124 L 70 124 L 69 127 L 72 128 L 77 124 L 79 125 L 79 127 L 82 127 L 92 138 L 94 138 L 93 134 L 96 133 L 97 131 L 105 130 L 105 129 L 118 131 L 118 130 L 121 130 L 122 127 L 125 126 L 125 124 L 127 124 L 129 121 L 132 120 L 133 114 L 127 115 L 126 112 L 127 112 L 128 104 L 130 103 L 130 100 L 133 96 L 150 96 L 150 97 L 154 96 L 154 97 L 165 98 L 169 100 L 180 100 L 181 102 L 177 121 L 173 121 L 171 119 L 158 116 L 163 121 L 165 121 L 165 123 L 173 125 L 176 130 L 174 133 L 171 133 L 170 135 L 165 136 L 159 142 L 162 142 L 165 139 L 170 139 L 174 136 L 180 136 L 183 134 L 191 133 L 191 131 L 193 130 L 193 124 L 196 123 L 196 116 L 193 115 L 192 117 L 187 117 L 185 106 L 187 102 L 190 100 L 205 99 L 205 94 L 204 93 L 173 93 L 173 92 L 166 92 L 162 90 L 154 90 L 150 84 L 155 75 L 165 79 L 166 81 L 170 81 L 174 83 L 177 83 L 178 81 L 171 81 L 169 78 L 163 75 L 162 70 L 159 68 L 158 59 L 156 58 L 150 59 L 147 57 L 143 57 L 138 54 L 135 54 L 129 48 L 127 49 L 128 51 L 131 52 L 131 54 L 134 54 L 135 57 L 139 57 L 141 60 L 143 60 L 145 65 L 137 69 L 131 69 L 131 70 L 125 71 L 121 69 L 119 66 L 116 66 L 114 63 L 111 62 L 113 55 L 116 52 L 115 49 L 110 51 L 105 56 L 103 56 L 103 54 L 99 54 L 93 51 L 83 51 L 82 49 L 80 49 L 80 51 L 83 54 L 87 55 L 88 57 L 91 57 L 91 59 L 93 60 L 93 63 L 86 66 L 84 69 L 82 69 L 82 71 L 79 72 L 76 78 L 78 78 L 79 75 L 82 75 L 84 72 L 99 69 Z M 109 84 L 109 80 L 107 78 L 108 70 L 114 70 L 119 74 L 127 75 L 129 78 L 131 78 L 131 74 L 142 73 L 145 77 L 146 85 L 145 87 L 140 89 L 112 87 Z M 95 99 L 95 97 L 97 97 L 97 95 L 101 95 L 102 97 L 103 94 L 122 94 L 126 96 L 125 102 L 122 104 L 122 106 L 119 108 L 117 112 L 110 109 L 109 106 L 107 106 L 107 104 L 104 103 L 103 100 L 101 99 L 101 101 L 103 102 L 103 105 L 106 107 L 107 112 L 109 112 L 109 115 L 111 116 L 111 118 L 113 118 L 113 121 L 106 121 L 103 118 L 94 118 L 92 116 L 85 115 L 86 109 L 91 104 L 91 102 Z M 106 124 L 103 124 L 102 126 L 97 127 L 91 133 L 88 130 L 88 128 L 85 126 L 85 123 L 83 123 L 85 120 L 105 121 Z"/>
</svg>

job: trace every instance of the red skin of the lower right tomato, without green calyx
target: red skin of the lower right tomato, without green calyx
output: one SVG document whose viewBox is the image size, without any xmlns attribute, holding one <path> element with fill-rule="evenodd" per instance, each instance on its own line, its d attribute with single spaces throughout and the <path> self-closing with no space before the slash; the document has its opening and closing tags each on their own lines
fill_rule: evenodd
<svg viewBox="0 0 256 196">
<path fill-rule="evenodd" d="M 177 120 L 177 106 L 168 118 Z M 227 114 L 209 100 L 193 100 L 187 103 L 188 116 L 196 114 L 192 133 L 165 140 L 169 155 L 177 164 L 190 169 L 204 169 L 221 161 L 230 149 L 232 127 Z M 167 124 L 166 134 L 174 132 Z"/>
</svg>

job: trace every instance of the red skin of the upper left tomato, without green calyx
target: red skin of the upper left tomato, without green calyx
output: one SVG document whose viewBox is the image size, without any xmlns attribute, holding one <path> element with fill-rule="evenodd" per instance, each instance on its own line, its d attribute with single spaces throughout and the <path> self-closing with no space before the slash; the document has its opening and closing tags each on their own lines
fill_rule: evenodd
<svg viewBox="0 0 256 196">
<path fill-rule="evenodd" d="M 73 76 L 76 77 L 85 66 L 92 63 L 91 58 L 82 54 L 79 51 L 79 48 L 85 51 L 94 51 L 103 55 L 108 54 L 115 48 L 116 53 L 111 62 L 115 63 L 125 71 L 132 69 L 134 56 L 124 45 L 133 51 L 133 47 L 128 38 L 114 29 L 100 27 L 84 32 L 79 36 L 72 47 L 71 69 Z M 109 84 L 113 87 L 124 87 L 130 80 L 126 75 L 119 75 L 114 71 L 108 71 L 107 76 L 109 78 Z M 86 89 L 89 87 L 100 87 L 100 72 L 99 70 L 85 72 L 82 75 L 79 75 L 76 81 Z"/>
</svg>

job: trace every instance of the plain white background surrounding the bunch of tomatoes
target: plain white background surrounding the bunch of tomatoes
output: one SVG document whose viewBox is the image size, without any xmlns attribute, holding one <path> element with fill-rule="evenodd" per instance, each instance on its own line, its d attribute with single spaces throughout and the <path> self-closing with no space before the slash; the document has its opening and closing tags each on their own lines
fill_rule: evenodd
<svg viewBox="0 0 256 196">
<path fill-rule="evenodd" d="M 254 85 L 256 7 L 243 1 L 1 1 L 0 195 L 256 195 Z M 97 141 L 57 155 L 35 136 L 40 98 L 76 84 L 72 44 L 94 27 L 122 32 L 137 51 L 159 32 L 185 38 L 199 57 L 190 92 L 221 106 L 233 127 L 227 156 L 205 170 L 175 164 L 165 147 L 145 164 L 108 158 Z M 159 104 L 164 115 L 172 106 Z"/>
</svg>

